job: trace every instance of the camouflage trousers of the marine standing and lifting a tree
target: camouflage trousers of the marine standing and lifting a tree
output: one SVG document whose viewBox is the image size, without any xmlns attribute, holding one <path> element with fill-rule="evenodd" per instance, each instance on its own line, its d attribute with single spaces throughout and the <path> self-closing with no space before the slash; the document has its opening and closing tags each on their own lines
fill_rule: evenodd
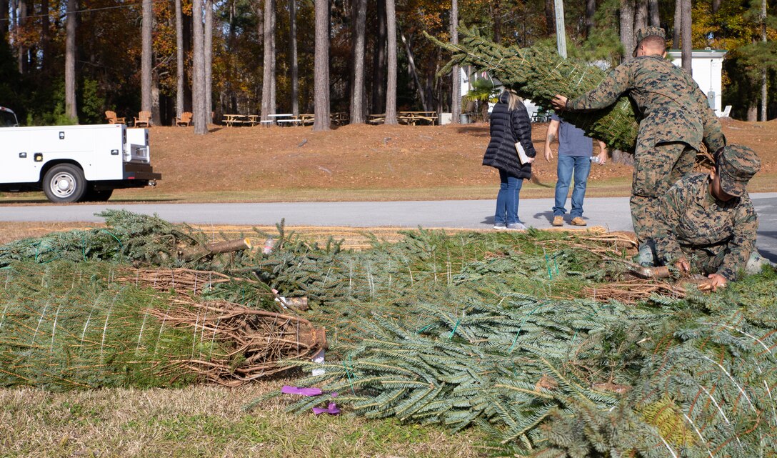
<svg viewBox="0 0 777 458">
<path fill-rule="evenodd" d="M 655 238 L 661 196 L 674 182 L 691 173 L 695 159 L 695 149 L 686 143 L 661 143 L 650 148 L 637 145 L 629 204 L 639 243 Z"/>
</svg>

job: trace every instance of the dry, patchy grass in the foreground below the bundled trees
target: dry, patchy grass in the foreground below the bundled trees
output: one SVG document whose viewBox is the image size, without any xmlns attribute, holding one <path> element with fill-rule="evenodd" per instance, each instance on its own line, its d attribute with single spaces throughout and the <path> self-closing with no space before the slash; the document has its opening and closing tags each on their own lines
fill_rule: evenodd
<svg viewBox="0 0 777 458">
<path fill-rule="evenodd" d="M 285 383 L 291 383 L 285 381 Z M 285 400 L 249 401 L 284 381 L 228 389 L 0 390 L 0 456 L 484 456 L 475 431 L 342 416 L 284 413 Z M 291 396 L 291 395 L 289 395 Z"/>
</svg>

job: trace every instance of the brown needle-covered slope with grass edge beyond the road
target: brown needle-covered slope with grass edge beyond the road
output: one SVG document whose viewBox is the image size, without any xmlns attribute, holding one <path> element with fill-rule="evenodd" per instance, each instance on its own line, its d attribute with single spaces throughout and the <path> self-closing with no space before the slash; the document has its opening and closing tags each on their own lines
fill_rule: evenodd
<svg viewBox="0 0 777 458">
<path fill-rule="evenodd" d="M 777 121 L 723 120 L 730 143 L 753 148 L 761 172 L 751 191 L 775 191 Z M 532 124 L 542 157 L 547 124 Z M 112 201 L 395 201 L 493 199 L 498 173 L 481 165 L 487 124 L 461 126 L 348 125 L 310 128 L 152 128 L 152 162 L 162 173 L 153 189 L 119 190 Z M 556 159 L 538 159 L 521 198 L 549 198 Z M 591 168 L 587 195 L 629 195 L 632 167 Z M 0 203 L 45 202 L 42 193 L 0 194 Z"/>
</svg>

